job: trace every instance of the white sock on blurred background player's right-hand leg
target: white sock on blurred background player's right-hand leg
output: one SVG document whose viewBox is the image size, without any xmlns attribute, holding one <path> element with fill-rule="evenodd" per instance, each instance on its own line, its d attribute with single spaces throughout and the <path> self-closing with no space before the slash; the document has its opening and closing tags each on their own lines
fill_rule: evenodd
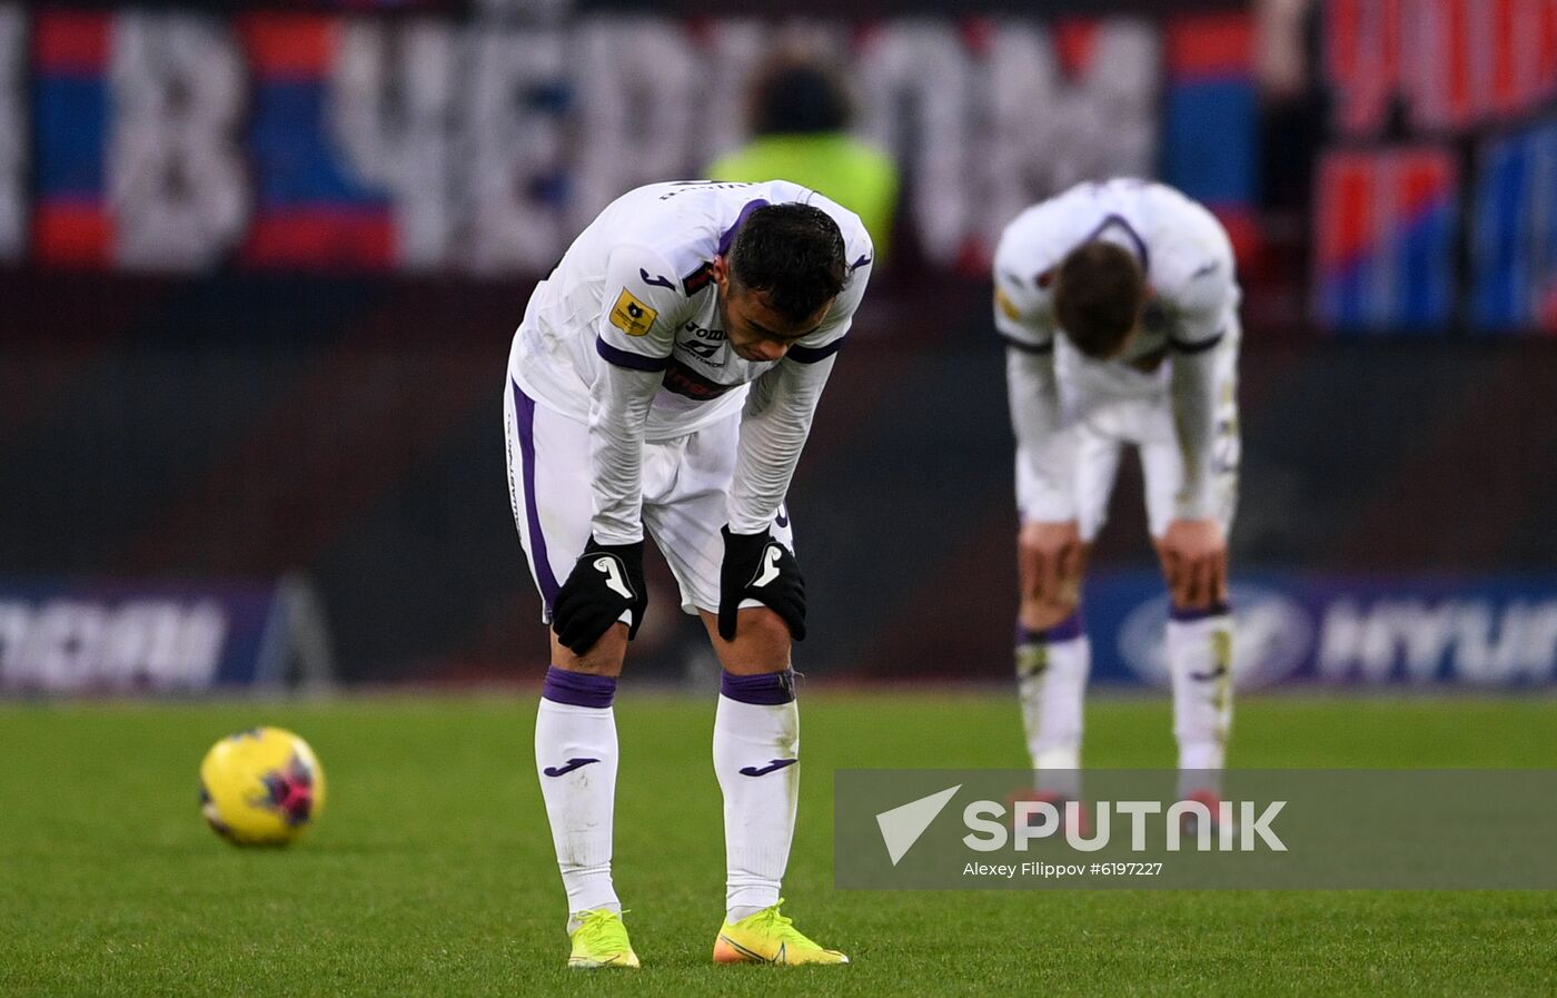
<svg viewBox="0 0 1557 998">
<path fill-rule="evenodd" d="M 1233 618 L 1218 612 L 1168 621 L 1172 733 L 1179 740 L 1179 794 L 1221 794 L 1233 719 Z"/>
</svg>

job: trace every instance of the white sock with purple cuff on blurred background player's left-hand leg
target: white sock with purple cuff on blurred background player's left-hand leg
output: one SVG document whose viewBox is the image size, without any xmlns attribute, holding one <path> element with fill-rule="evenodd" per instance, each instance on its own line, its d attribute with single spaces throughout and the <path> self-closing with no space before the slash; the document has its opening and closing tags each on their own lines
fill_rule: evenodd
<svg viewBox="0 0 1557 998">
<path fill-rule="evenodd" d="M 1054 627 L 1017 627 L 1017 696 L 1037 789 L 1081 796 L 1082 702 L 1091 643 L 1073 613 Z"/>
</svg>

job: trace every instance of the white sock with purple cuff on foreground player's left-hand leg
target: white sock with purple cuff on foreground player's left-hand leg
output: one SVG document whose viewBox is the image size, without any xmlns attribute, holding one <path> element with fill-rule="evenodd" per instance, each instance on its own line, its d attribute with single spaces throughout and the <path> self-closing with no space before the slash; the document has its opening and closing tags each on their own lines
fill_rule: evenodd
<svg viewBox="0 0 1557 998">
<path fill-rule="evenodd" d="M 576 912 L 621 911 L 610 883 L 617 796 L 617 718 L 610 698 L 615 687 L 617 680 L 604 676 L 553 666 L 536 715 L 536 774 L 568 894 L 568 931 L 578 928 Z"/>
</svg>

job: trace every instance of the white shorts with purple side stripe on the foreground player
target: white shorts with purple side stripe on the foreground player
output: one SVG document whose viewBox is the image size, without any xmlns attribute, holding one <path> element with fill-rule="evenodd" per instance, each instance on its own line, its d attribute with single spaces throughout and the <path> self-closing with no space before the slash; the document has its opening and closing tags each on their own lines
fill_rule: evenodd
<svg viewBox="0 0 1557 998">
<path fill-rule="evenodd" d="M 682 610 L 719 610 L 719 565 L 729 523 L 730 480 L 741 414 L 676 441 L 643 445 L 643 529 L 665 554 L 680 585 Z M 542 621 L 551 623 L 557 589 L 589 543 L 595 511 L 589 428 L 508 380 L 503 392 L 508 494 L 514 525 L 540 590 Z M 780 504 L 769 531 L 794 551 L 789 512 Z M 743 606 L 758 606 L 743 601 Z"/>
</svg>

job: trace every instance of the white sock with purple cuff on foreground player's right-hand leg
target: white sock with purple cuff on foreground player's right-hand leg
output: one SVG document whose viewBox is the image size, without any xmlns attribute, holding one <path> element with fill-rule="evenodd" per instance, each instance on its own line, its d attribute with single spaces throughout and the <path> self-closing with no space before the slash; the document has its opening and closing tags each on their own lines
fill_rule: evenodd
<svg viewBox="0 0 1557 998">
<path fill-rule="evenodd" d="M 778 903 L 800 797 L 794 673 L 724 673 L 713 715 L 713 771 L 724 791 L 726 915 Z"/>
</svg>

